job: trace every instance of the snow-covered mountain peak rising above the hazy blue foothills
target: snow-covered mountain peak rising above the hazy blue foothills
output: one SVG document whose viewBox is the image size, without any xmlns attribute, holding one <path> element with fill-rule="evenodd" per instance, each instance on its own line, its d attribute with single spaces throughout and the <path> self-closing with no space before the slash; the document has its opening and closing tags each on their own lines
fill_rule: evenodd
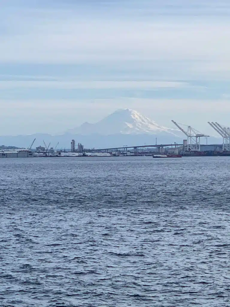
<svg viewBox="0 0 230 307">
<path fill-rule="evenodd" d="M 178 135 L 178 130 L 158 125 L 155 121 L 131 109 L 118 109 L 104 119 L 68 130 L 71 134 L 171 134 Z"/>
</svg>

